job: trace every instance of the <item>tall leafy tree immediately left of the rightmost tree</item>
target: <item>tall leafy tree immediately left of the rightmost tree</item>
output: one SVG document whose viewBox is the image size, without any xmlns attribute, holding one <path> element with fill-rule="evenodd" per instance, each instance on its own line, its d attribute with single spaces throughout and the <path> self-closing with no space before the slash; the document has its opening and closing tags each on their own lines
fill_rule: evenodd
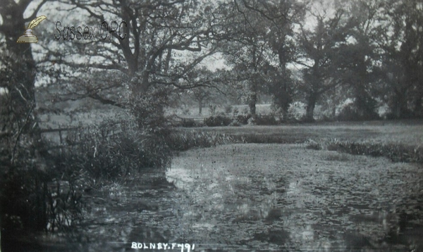
<svg viewBox="0 0 423 252">
<path fill-rule="evenodd" d="M 381 11 L 383 2 L 348 1 L 343 8 L 347 41 L 338 51 L 338 66 L 345 70 L 345 92 L 350 93 L 354 101 L 355 113 L 361 119 L 377 118 L 376 92 L 380 80 L 380 50 L 378 42 L 381 37 Z"/>
</svg>

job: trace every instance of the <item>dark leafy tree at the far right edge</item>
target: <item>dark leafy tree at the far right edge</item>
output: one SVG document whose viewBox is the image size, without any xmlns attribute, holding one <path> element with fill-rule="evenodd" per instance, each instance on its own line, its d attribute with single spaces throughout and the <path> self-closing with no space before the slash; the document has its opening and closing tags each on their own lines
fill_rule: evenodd
<svg viewBox="0 0 423 252">
<path fill-rule="evenodd" d="M 396 118 L 422 115 L 423 3 L 387 1 L 380 38 L 386 83 L 385 98 Z"/>
</svg>

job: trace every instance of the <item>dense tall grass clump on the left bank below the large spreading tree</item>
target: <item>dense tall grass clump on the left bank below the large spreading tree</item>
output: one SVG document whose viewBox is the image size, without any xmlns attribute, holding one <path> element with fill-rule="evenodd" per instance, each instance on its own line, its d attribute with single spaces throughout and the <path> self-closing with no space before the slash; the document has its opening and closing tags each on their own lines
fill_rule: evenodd
<svg viewBox="0 0 423 252">
<path fill-rule="evenodd" d="M 171 158 L 164 139 L 123 123 L 86 127 L 68 134 L 66 141 L 69 146 L 56 155 L 56 166 L 60 170 L 83 170 L 97 181 L 116 182 L 142 168 L 163 168 Z"/>
</svg>

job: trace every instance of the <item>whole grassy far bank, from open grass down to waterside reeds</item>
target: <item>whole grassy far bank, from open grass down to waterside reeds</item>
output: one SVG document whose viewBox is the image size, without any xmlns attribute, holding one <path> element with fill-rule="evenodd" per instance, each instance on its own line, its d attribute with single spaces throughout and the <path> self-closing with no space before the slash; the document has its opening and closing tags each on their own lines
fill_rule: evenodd
<svg viewBox="0 0 423 252">
<path fill-rule="evenodd" d="M 228 143 L 305 143 L 309 149 L 423 163 L 423 122 L 419 120 L 178 128 L 174 135 L 178 136 L 175 142 L 184 143 L 179 150 Z"/>
</svg>

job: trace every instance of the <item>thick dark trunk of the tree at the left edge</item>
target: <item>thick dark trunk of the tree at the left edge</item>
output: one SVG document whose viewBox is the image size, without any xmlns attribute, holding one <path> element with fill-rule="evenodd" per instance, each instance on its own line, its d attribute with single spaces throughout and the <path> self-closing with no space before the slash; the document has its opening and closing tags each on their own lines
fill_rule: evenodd
<svg viewBox="0 0 423 252">
<path fill-rule="evenodd" d="M 18 37 L 25 32 L 25 19 L 23 13 L 26 5 L 21 1 L 16 4 L 15 1 L 6 1 L 0 6 L 0 14 L 3 17 L 3 23 L 0 25 L 0 32 L 6 39 L 6 50 L 11 53 L 11 72 L 12 77 L 6 79 L 6 89 L 10 94 L 11 125 L 7 125 L 8 131 L 13 133 L 11 146 L 11 165 L 17 160 L 16 151 L 18 148 L 29 149 L 30 156 L 23 158 L 35 158 L 39 166 L 44 166 L 41 154 L 41 134 L 35 118 L 35 61 L 32 57 L 30 43 L 17 43 Z M 25 144 L 25 146 L 20 146 Z M 41 158 L 41 159 L 40 159 Z"/>
</svg>

